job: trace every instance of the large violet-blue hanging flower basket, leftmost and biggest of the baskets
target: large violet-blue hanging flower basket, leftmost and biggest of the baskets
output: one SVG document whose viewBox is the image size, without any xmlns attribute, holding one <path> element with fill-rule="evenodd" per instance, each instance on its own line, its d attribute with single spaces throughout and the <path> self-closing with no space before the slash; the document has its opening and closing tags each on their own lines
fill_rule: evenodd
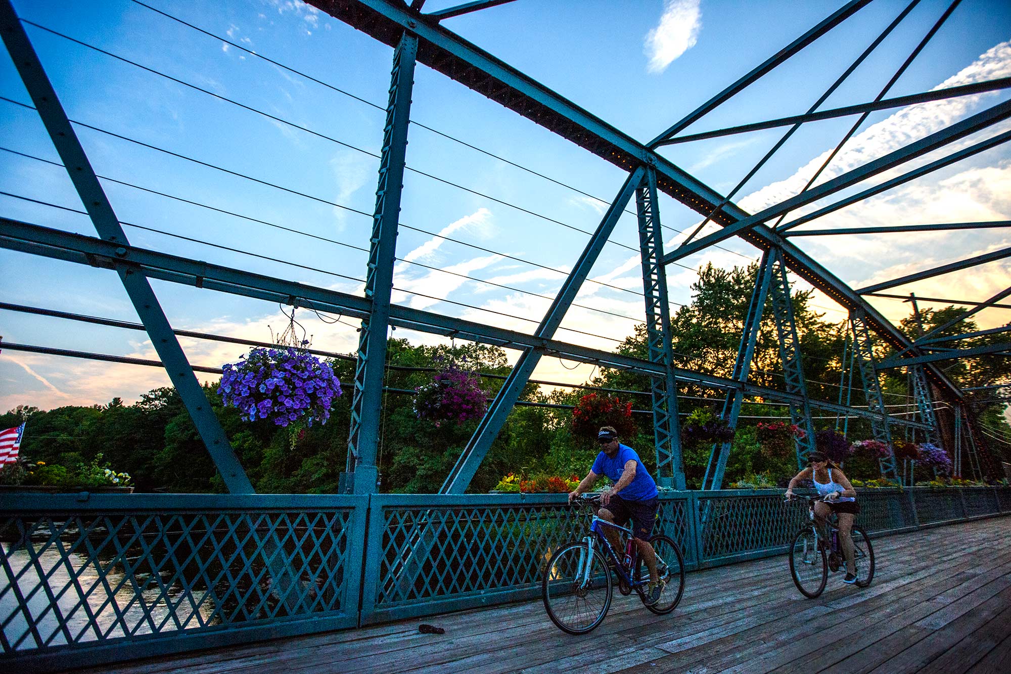
<svg viewBox="0 0 1011 674">
<path fill-rule="evenodd" d="M 244 419 L 270 419 L 278 426 L 327 423 L 341 382 L 330 363 L 293 346 L 256 348 L 221 368 L 217 393 Z"/>
</svg>

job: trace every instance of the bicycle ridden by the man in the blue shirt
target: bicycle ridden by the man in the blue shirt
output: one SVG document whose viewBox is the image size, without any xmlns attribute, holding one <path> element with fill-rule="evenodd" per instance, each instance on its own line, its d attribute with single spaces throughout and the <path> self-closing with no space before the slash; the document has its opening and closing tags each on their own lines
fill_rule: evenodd
<svg viewBox="0 0 1011 674">
<path fill-rule="evenodd" d="M 600 497 L 575 499 L 579 506 L 593 509 L 589 529 L 580 540 L 562 545 L 551 556 L 541 582 L 541 597 L 548 617 L 562 631 L 585 635 L 596 628 L 611 608 L 615 578 L 624 595 L 639 594 L 653 613 L 664 615 L 674 610 L 684 593 L 684 560 L 677 543 L 663 534 L 649 539 L 656 553 L 656 566 L 664 587 L 655 604 L 646 604 L 649 570 L 638 556 L 632 529 L 618 526 L 598 516 Z M 611 527 L 625 534 L 625 555 L 619 558 L 604 534 Z"/>
</svg>

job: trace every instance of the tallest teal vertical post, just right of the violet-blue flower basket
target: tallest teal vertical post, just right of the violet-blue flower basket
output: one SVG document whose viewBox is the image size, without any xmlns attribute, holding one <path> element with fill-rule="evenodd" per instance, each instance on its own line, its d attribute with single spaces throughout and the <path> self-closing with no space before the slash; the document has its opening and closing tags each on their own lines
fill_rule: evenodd
<svg viewBox="0 0 1011 674">
<path fill-rule="evenodd" d="M 418 36 L 404 32 L 393 53 L 393 69 L 383 128 L 379 186 L 372 219 L 365 297 L 372 303 L 362 320 L 355 365 L 354 398 L 351 404 L 351 431 L 348 435 L 347 473 L 341 476 L 339 491 L 369 494 L 376 491 L 379 419 L 382 413 L 383 373 L 386 366 L 386 335 L 389 304 L 393 288 L 393 261 L 396 257 L 396 230 L 400 217 L 400 192 L 407 152 L 410 95 L 415 84 Z"/>
</svg>

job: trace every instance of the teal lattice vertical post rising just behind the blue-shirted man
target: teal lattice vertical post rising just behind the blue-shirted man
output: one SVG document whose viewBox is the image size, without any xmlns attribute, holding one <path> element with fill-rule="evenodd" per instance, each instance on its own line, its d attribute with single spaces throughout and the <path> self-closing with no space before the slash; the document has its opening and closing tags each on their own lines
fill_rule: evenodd
<svg viewBox="0 0 1011 674">
<path fill-rule="evenodd" d="M 663 236 L 656 195 L 656 171 L 650 168 L 636 190 L 639 217 L 639 251 L 642 256 L 642 289 L 646 301 L 646 343 L 649 359 L 663 363 L 665 374 L 650 377 L 653 394 L 653 439 L 656 443 L 656 480 L 664 487 L 684 489 L 680 423 L 677 418 L 677 383 L 674 381 L 670 343 L 670 305 L 667 273 L 660 264 Z"/>
</svg>

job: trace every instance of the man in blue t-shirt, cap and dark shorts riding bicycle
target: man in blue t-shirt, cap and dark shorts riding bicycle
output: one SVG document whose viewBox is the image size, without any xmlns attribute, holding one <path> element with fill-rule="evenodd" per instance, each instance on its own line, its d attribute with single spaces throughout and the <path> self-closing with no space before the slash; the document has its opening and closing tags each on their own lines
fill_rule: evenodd
<svg viewBox="0 0 1011 674">
<path fill-rule="evenodd" d="M 601 494 L 601 508 L 598 516 L 613 524 L 622 525 L 632 520 L 632 531 L 639 557 L 649 570 L 649 585 L 646 588 L 646 605 L 651 606 L 663 593 L 663 581 L 656 570 L 656 554 L 649 543 L 659 506 L 656 483 L 639 459 L 635 449 L 618 441 L 618 431 L 613 426 L 604 426 L 598 432 L 596 441 L 601 452 L 586 477 L 569 493 L 569 503 L 588 491 L 598 478 L 607 476 L 615 483 L 610 490 Z M 605 527 L 611 546 L 620 551 L 618 532 Z"/>
</svg>

